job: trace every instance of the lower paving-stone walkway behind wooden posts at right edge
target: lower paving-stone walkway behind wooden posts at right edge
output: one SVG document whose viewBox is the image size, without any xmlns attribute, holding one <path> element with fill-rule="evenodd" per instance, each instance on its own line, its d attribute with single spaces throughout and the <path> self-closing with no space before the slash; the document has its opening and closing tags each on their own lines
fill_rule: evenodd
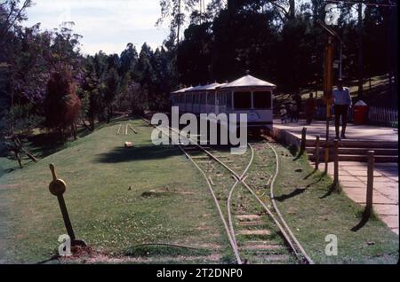
<svg viewBox="0 0 400 282">
<path fill-rule="evenodd" d="M 320 169 L 324 164 L 320 165 Z M 333 163 L 328 174 L 333 177 Z M 348 197 L 365 205 L 367 164 L 357 161 L 340 161 L 339 181 Z M 375 163 L 373 173 L 373 209 L 380 219 L 398 235 L 398 164 Z"/>
</svg>

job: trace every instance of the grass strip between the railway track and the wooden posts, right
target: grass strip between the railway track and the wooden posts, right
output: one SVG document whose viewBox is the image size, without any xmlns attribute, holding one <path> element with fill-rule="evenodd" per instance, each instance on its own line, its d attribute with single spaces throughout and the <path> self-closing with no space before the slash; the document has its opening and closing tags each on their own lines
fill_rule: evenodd
<svg viewBox="0 0 400 282">
<path fill-rule="evenodd" d="M 280 174 L 276 202 L 287 223 L 316 263 L 397 263 L 398 236 L 376 216 L 357 231 L 364 208 L 344 192 L 330 192 L 332 179 L 308 164 L 306 157 L 293 161 L 277 146 Z M 303 168 L 301 172 L 295 169 Z M 324 254 L 326 235 L 338 238 L 338 255 Z"/>
</svg>

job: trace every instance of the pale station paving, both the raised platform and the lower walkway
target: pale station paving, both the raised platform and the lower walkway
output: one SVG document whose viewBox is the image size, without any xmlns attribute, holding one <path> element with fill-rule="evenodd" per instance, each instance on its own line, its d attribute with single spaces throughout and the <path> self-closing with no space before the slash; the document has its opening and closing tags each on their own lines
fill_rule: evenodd
<svg viewBox="0 0 400 282">
<path fill-rule="evenodd" d="M 317 135 L 323 140 L 325 137 L 326 122 L 313 121 L 307 125 L 306 121 L 282 124 L 274 121 L 274 136 L 281 138 L 287 144 L 300 145 L 301 130 L 307 127 L 307 139 L 314 140 Z M 335 137 L 334 121 L 330 124 L 330 135 Z M 346 140 L 377 143 L 398 143 L 398 130 L 371 125 L 354 125 L 348 123 Z M 398 147 L 398 145 L 395 144 Z M 314 163 L 312 164 L 314 166 Z M 324 169 L 324 164 L 320 164 Z M 328 174 L 333 176 L 333 163 L 329 163 Z M 344 192 L 356 203 L 364 206 L 366 201 L 367 163 L 358 161 L 339 162 L 339 181 Z M 388 227 L 398 234 L 398 164 L 375 163 L 373 177 L 373 209 Z"/>
</svg>

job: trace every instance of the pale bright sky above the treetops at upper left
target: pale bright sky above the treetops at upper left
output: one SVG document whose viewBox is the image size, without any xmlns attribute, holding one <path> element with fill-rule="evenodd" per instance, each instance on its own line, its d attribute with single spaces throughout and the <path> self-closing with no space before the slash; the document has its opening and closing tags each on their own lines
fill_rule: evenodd
<svg viewBox="0 0 400 282">
<path fill-rule="evenodd" d="M 161 46 L 169 34 L 165 23 L 156 27 L 160 17 L 158 0 L 34 0 L 28 8 L 24 26 L 41 23 L 42 30 L 52 30 L 62 22 L 74 21 L 73 32 L 84 37 L 81 51 L 91 54 L 104 51 L 120 54 L 127 43 L 140 51 L 143 43 Z"/>
</svg>

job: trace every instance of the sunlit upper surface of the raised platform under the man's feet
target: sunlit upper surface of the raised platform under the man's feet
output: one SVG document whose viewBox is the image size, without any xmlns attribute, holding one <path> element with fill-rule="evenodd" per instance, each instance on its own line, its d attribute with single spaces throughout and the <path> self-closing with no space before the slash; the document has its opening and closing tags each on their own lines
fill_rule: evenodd
<svg viewBox="0 0 400 282">
<path fill-rule="evenodd" d="M 311 125 L 307 125 L 306 121 L 300 120 L 297 123 L 289 122 L 282 124 L 280 120 L 274 120 L 274 128 L 284 129 L 291 133 L 292 136 L 301 138 L 301 130 L 307 127 L 307 139 L 315 139 L 317 135 L 324 139 L 326 132 L 326 121 L 313 121 Z M 341 129 L 341 127 L 340 127 Z M 334 121 L 330 122 L 330 136 L 335 137 Z M 389 141 L 398 142 L 397 129 L 371 125 L 354 125 L 348 123 L 346 129 L 346 140 L 371 140 L 371 141 Z"/>
</svg>

